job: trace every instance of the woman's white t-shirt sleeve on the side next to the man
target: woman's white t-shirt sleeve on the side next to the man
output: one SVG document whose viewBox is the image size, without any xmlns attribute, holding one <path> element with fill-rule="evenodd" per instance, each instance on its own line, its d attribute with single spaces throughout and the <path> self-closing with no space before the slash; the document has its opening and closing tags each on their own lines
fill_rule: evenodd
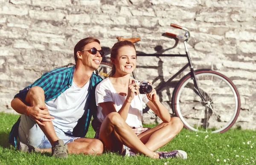
<svg viewBox="0 0 256 165">
<path fill-rule="evenodd" d="M 113 102 L 111 91 L 104 83 L 97 85 L 95 90 L 95 99 L 96 99 L 97 106 L 99 106 L 99 103 L 109 102 L 109 101 Z"/>
</svg>

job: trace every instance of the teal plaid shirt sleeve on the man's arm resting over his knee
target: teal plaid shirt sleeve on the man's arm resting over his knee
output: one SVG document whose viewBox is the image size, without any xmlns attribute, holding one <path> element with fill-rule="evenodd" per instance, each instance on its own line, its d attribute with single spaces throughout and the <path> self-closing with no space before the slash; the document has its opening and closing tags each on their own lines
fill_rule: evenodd
<svg viewBox="0 0 256 165">
<path fill-rule="evenodd" d="M 47 92 L 50 90 L 52 86 L 52 74 L 49 72 L 44 73 L 41 78 L 38 78 L 33 84 L 25 87 L 23 90 L 20 90 L 19 93 L 17 93 L 14 98 L 18 97 L 20 98 L 24 103 L 26 103 L 26 95 L 29 92 L 30 88 L 32 87 L 41 87 L 44 90 L 44 96 L 47 97 Z"/>
</svg>

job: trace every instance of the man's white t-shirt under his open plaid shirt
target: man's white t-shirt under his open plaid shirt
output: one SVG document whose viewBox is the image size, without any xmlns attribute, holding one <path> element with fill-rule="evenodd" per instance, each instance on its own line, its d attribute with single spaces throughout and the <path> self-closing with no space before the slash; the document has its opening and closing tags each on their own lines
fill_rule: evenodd
<svg viewBox="0 0 256 165">
<path fill-rule="evenodd" d="M 87 109 L 89 84 L 90 81 L 84 87 L 79 88 L 73 82 L 64 93 L 45 103 L 51 116 L 55 117 L 52 120 L 54 126 L 65 133 L 72 134 L 78 119 L 83 116 L 84 110 Z"/>
</svg>

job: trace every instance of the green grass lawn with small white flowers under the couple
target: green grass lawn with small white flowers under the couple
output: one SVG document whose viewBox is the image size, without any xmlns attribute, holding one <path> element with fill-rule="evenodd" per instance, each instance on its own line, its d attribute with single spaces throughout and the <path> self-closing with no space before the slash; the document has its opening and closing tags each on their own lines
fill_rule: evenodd
<svg viewBox="0 0 256 165">
<path fill-rule="evenodd" d="M 112 153 L 101 156 L 69 155 L 68 159 L 56 159 L 49 153 L 20 153 L 8 143 L 8 135 L 17 115 L 0 113 L 0 164 L 91 164 L 91 165 L 215 165 L 215 164 L 255 164 L 256 133 L 252 130 L 232 129 L 222 134 L 195 133 L 183 129 L 161 151 L 184 150 L 188 159 L 150 159 L 146 156 L 125 157 Z M 154 125 L 147 125 L 153 127 Z M 208 135 L 208 136 L 207 136 Z M 87 137 L 92 138 L 94 131 L 90 127 Z M 206 138 L 207 136 L 207 138 Z M 243 143 L 244 142 L 244 143 Z M 247 144 L 247 142 L 249 144 Z M 252 146 L 252 148 L 251 148 Z M 211 156 L 211 154 L 213 156 Z M 236 157 L 239 156 L 239 157 Z M 219 159 L 219 162 L 217 161 Z M 224 159 L 226 162 L 224 162 Z"/>
</svg>

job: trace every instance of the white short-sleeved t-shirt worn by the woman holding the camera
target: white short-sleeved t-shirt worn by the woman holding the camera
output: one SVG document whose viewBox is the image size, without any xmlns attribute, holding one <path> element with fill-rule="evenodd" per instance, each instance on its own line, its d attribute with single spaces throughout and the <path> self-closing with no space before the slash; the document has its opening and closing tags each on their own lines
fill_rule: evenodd
<svg viewBox="0 0 256 165">
<path fill-rule="evenodd" d="M 121 96 L 116 92 L 109 78 L 101 81 L 97 85 L 95 91 L 96 105 L 98 110 L 97 118 L 99 122 L 103 122 L 103 119 L 106 117 L 102 114 L 102 107 L 99 106 L 99 103 L 112 101 L 116 111 L 118 112 L 124 104 L 126 97 L 127 96 Z M 148 102 L 148 98 L 145 94 L 134 96 L 134 99 L 131 101 L 131 106 L 125 121 L 130 127 L 142 127 L 143 102 Z"/>
</svg>

